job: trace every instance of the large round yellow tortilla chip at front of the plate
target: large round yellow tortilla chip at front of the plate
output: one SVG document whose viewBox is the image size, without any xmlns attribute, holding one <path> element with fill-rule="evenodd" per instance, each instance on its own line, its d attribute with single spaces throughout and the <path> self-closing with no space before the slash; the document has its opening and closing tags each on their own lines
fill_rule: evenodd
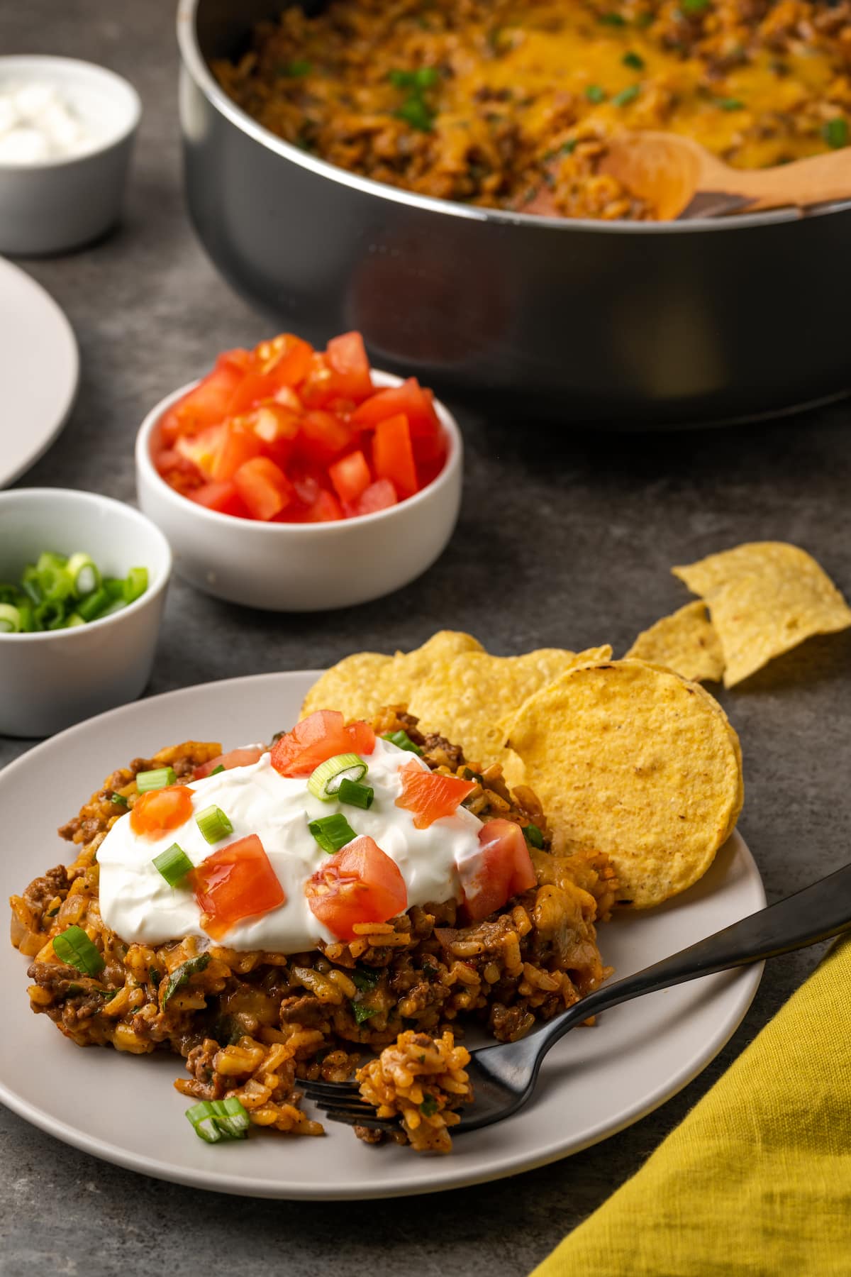
<svg viewBox="0 0 851 1277">
<path fill-rule="evenodd" d="M 509 729 L 568 853 L 611 857 L 624 903 L 661 904 L 706 873 L 735 827 L 735 733 L 697 683 L 639 660 L 568 670 Z"/>
</svg>

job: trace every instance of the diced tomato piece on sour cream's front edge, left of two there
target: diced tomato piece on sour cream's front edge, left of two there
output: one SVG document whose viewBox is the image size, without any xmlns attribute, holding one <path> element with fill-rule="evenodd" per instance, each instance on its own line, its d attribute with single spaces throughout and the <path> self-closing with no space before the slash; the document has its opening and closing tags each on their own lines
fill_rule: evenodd
<svg viewBox="0 0 851 1277">
<path fill-rule="evenodd" d="M 269 913 L 287 895 L 256 834 L 219 848 L 191 872 L 200 925 L 221 940 L 237 922 Z"/>
</svg>

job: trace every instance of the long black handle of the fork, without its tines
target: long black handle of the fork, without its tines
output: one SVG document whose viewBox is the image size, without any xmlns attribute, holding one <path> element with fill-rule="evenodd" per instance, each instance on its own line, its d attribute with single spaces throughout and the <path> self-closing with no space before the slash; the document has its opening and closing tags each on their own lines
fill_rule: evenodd
<svg viewBox="0 0 851 1277">
<path fill-rule="evenodd" d="M 795 895 L 778 900 L 767 909 L 759 909 L 741 922 L 734 922 L 723 931 L 699 940 L 695 945 L 663 958 L 633 976 L 603 985 L 582 1001 L 550 1020 L 535 1034 L 541 1041 L 538 1060 L 563 1037 L 568 1029 L 597 1011 L 609 1010 L 619 1002 L 628 1002 L 642 994 L 653 994 L 686 979 L 712 976 L 718 971 L 746 967 L 805 949 L 819 940 L 838 936 L 851 928 L 851 865 L 820 879 Z"/>
</svg>

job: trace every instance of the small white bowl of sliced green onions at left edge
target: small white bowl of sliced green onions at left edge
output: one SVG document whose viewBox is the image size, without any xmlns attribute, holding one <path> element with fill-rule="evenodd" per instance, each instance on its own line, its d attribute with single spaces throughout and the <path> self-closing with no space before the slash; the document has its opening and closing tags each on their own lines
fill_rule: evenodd
<svg viewBox="0 0 851 1277">
<path fill-rule="evenodd" d="M 170 575 L 166 538 L 130 506 L 0 493 L 0 734 L 50 736 L 135 700 Z"/>
</svg>

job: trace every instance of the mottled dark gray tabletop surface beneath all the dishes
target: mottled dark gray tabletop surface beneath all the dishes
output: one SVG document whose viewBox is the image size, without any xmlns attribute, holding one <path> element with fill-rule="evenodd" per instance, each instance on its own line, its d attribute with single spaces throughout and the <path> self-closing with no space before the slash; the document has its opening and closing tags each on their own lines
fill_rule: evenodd
<svg viewBox="0 0 851 1277">
<path fill-rule="evenodd" d="M 122 227 L 87 252 L 23 263 L 70 317 L 83 378 L 66 430 L 22 483 L 130 501 L 133 437 L 147 409 L 221 347 L 250 345 L 267 327 L 217 277 L 184 215 L 171 0 L 4 4 L 0 51 L 88 57 L 142 93 Z M 149 691 L 407 647 L 443 626 L 498 653 L 603 641 L 623 653 L 684 601 L 670 564 L 749 539 L 805 545 L 851 594 L 850 419 L 843 404 L 776 425 L 598 442 L 519 425 L 494 432 L 467 414 L 461 525 L 421 581 L 333 617 L 250 613 L 175 581 Z M 850 658 L 851 635 L 817 640 L 723 696 L 745 753 L 741 829 L 769 899 L 847 858 Z M 0 764 L 26 747 L 0 739 Z M 714 1064 L 630 1130 L 450 1195 L 376 1205 L 228 1199 L 97 1162 L 0 1110 L 0 1272 L 195 1277 L 273 1264 L 293 1277 L 381 1277 L 406 1266 L 420 1277 L 515 1277 L 640 1167 L 817 958 L 769 964 Z"/>
</svg>

